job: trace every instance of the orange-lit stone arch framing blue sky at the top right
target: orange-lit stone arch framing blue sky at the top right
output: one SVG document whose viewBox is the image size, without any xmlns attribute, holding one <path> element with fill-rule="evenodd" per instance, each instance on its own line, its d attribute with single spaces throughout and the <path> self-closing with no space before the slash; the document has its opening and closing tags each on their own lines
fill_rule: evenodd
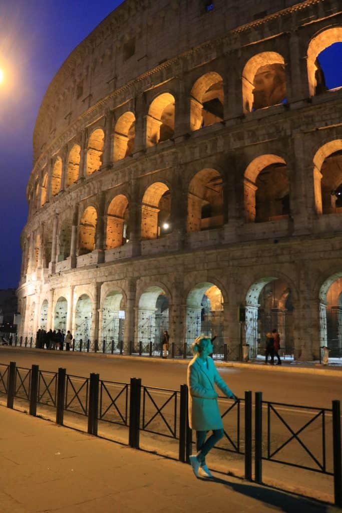
<svg viewBox="0 0 342 513">
<path fill-rule="evenodd" d="M 324 71 L 318 60 L 320 52 L 334 43 L 342 43 L 342 27 L 331 27 L 316 34 L 310 41 L 307 53 L 307 68 L 310 96 L 327 90 Z M 342 84 L 341 84 L 342 85 Z"/>
</svg>

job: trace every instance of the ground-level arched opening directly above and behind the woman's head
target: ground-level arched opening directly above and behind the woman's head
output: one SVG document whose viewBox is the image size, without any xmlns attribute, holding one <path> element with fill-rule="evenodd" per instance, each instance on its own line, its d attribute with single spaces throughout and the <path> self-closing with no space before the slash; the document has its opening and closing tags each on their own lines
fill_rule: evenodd
<svg viewBox="0 0 342 513">
<path fill-rule="evenodd" d="M 214 357 L 224 354 L 224 301 L 220 289 L 210 282 L 198 283 L 187 297 L 186 342 L 188 354 L 196 337 L 212 339 Z"/>
</svg>

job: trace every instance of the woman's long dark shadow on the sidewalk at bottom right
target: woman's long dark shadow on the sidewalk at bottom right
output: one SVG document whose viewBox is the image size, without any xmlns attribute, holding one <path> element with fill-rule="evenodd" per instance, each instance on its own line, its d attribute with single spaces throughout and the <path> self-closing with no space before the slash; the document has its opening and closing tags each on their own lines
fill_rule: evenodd
<svg viewBox="0 0 342 513">
<path fill-rule="evenodd" d="M 199 479 L 208 481 L 208 479 L 205 478 Z M 229 479 L 215 477 L 211 482 L 213 484 L 223 484 L 239 494 L 243 494 L 244 496 L 251 497 L 252 499 L 268 504 L 272 507 L 272 511 L 285 511 L 289 513 L 294 513 L 295 511 L 300 511 L 300 513 L 333 513 L 335 511 L 340 511 L 333 505 L 316 502 L 313 499 L 308 499 L 306 497 L 294 496 L 275 488 L 236 483 L 229 481 Z"/>
</svg>

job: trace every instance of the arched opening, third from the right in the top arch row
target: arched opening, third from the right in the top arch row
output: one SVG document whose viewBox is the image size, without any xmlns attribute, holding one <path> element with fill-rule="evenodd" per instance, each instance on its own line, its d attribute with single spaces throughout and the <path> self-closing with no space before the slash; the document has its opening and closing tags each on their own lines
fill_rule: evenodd
<svg viewBox="0 0 342 513">
<path fill-rule="evenodd" d="M 198 78 L 191 89 L 191 130 L 198 130 L 223 121 L 224 102 L 222 76 L 211 72 Z"/>
</svg>

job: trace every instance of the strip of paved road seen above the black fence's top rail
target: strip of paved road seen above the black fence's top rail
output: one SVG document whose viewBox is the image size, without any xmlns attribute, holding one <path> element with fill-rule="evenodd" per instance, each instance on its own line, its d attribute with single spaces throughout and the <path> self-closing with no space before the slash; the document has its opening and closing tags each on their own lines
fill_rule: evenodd
<svg viewBox="0 0 342 513">
<path fill-rule="evenodd" d="M 56 371 L 65 367 L 67 373 L 77 376 L 89 376 L 97 372 L 101 379 L 127 382 L 131 377 L 142 378 L 144 385 L 179 389 L 186 383 L 187 365 L 164 360 L 143 361 L 132 357 L 102 357 L 87 354 L 59 351 L 35 351 L 0 347 L 0 363 L 15 361 L 17 366 L 30 367 L 38 364 L 43 370 Z M 290 404 L 331 407 L 333 399 L 342 401 L 341 378 L 314 376 L 294 372 L 281 372 L 274 367 L 272 372 L 263 372 L 263 367 L 255 369 L 237 369 L 220 367 L 219 373 L 238 397 L 245 390 L 261 391 L 265 401 L 277 401 Z"/>
</svg>

